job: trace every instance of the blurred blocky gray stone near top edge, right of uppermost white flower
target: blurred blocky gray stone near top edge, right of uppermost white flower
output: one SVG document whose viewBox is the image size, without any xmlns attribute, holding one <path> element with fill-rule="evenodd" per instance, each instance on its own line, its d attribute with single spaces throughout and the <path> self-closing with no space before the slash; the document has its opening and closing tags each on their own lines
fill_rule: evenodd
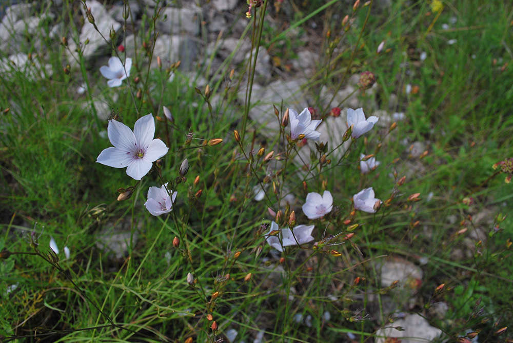
<svg viewBox="0 0 513 343">
<path fill-rule="evenodd" d="M 166 34 L 200 33 L 200 9 L 191 8 L 165 8 L 157 21 L 157 30 Z"/>
</svg>

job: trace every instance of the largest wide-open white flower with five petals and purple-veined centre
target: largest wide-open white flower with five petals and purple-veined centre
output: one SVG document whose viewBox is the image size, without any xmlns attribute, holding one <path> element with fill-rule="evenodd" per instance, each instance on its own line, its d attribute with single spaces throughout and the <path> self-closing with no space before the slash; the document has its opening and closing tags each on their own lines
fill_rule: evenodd
<svg viewBox="0 0 513 343">
<path fill-rule="evenodd" d="M 168 147 L 160 139 L 153 139 L 155 121 L 150 114 L 137 119 L 133 132 L 128 126 L 109 120 L 107 128 L 110 143 L 114 147 L 104 149 L 96 162 L 114 168 L 127 168 L 127 175 L 140 180 L 152 163 L 164 156 Z"/>
</svg>

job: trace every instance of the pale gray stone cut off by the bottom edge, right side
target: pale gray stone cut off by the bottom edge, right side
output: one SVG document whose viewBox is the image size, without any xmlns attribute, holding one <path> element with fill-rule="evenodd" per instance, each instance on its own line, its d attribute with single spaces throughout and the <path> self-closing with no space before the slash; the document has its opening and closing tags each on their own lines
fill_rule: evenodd
<svg viewBox="0 0 513 343">
<path fill-rule="evenodd" d="M 394 329 L 402 327 L 404 331 Z M 420 315 L 408 314 L 403 319 L 398 319 L 388 327 L 376 331 L 376 343 L 384 343 L 386 338 L 400 338 L 401 343 L 425 343 L 432 341 L 442 334 L 442 330 L 429 325 L 429 322 Z"/>
</svg>

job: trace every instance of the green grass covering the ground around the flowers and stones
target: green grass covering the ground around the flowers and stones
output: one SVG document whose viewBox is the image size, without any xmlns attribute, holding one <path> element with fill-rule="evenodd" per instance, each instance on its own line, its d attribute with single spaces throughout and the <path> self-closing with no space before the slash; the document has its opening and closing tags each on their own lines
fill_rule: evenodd
<svg viewBox="0 0 513 343">
<path fill-rule="evenodd" d="M 235 341 L 252 341 L 263 331 L 264 341 L 343 341 L 350 332 L 364 342 L 379 328 L 393 326 L 389 301 L 400 311 L 427 317 L 450 340 L 470 329 L 480 330 L 480 341 L 511 337 L 495 332 L 513 322 L 508 292 L 513 219 L 497 219 L 513 207 L 512 186 L 504 183 L 505 174 L 494 175 L 491 166 L 513 157 L 513 7 L 454 1 L 444 3 L 437 17 L 424 1 L 372 4 L 354 12 L 338 1 L 285 2 L 288 7 L 278 13 L 271 5 L 266 11 L 273 20 L 262 24 L 260 48 L 281 61 L 273 68 L 273 79 L 293 76 L 287 65 L 306 47 L 320 53 L 305 89 L 308 105 L 321 116 L 338 105 L 322 109 L 323 85 L 337 90 L 350 75 L 370 70 L 377 75 L 376 89 L 358 92 L 366 115 L 385 109 L 404 112 L 406 118 L 391 133 L 379 122 L 351 144 L 340 163 L 333 158 L 320 173 L 320 154 L 315 152 L 305 176 L 292 157 L 275 169 L 269 167 L 274 160 L 263 162 L 271 150 L 275 157 L 292 149 L 285 139 L 289 127 L 269 139 L 265 128 L 255 129 L 248 120 L 242 132 L 248 107 L 236 97 L 246 85 L 246 65 L 227 61 L 216 69 L 211 56 L 202 56 L 197 75 L 214 75 L 207 77 L 210 97 L 204 86 L 194 89 L 190 74 L 171 66 L 149 73 L 133 67 L 128 82 L 111 89 L 91 63 L 84 62 L 86 73 L 77 68 L 66 74 L 59 39 L 43 40 L 40 50 L 24 46 L 24 52 L 51 65 L 52 76 L 31 82 L 13 70 L 0 77 L 0 251 L 13 253 L 0 260 L 2 339 L 182 342 L 193 337 L 202 342 L 236 329 Z M 70 10 L 65 5 L 55 22 L 75 25 Z M 246 21 L 243 10 L 239 20 Z M 146 9 L 140 48 L 143 38 L 151 41 L 154 13 Z M 345 14 L 351 23 L 347 30 L 341 25 Z M 457 22 L 443 29 L 451 17 Z M 255 31 L 247 23 L 245 39 L 251 40 Z M 42 31 L 51 29 L 44 25 Z M 287 32 L 289 27 L 298 28 L 297 36 Z M 448 39 L 457 43 L 448 45 Z M 385 49 L 377 54 L 382 41 Z M 424 61 L 419 59 L 422 51 Z M 138 51 L 140 60 L 147 60 L 145 55 Z M 90 97 L 75 91 L 84 77 Z M 141 82 L 136 84 L 135 77 Z M 418 92 L 406 94 L 408 84 L 418 86 Z M 141 98 L 136 96 L 139 89 Z M 158 173 L 152 169 L 137 183 L 125 169 L 95 163 L 111 146 L 107 120 L 97 119 L 91 110 L 91 102 L 99 101 L 130 128 L 150 112 L 164 118 L 162 106 L 171 110 L 172 124 L 155 122 L 155 137 L 169 147 Z M 283 99 L 283 109 L 287 107 Z M 234 129 L 244 137 L 240 145 Z M 223 143 L 204 145 L 213 138 Z M 409 156 L 413 142 L 425 144 L 425 157 Z M 258 157 L 261 147 L 265 153 Z M 374 151 L 381 165 L 362 176 L 360 153 Z M 180 180 L 184 158 L 190 169 Z M 159 173 L 178 196 L 169 216 L 154 217 L 143 204 L 148 187 L 162 185 Z M 406 183 L 396 186 L 403 175 Z M 261 181 L 268 185 L 267 196 L 256 202 L 253 187 Z M 135 187 L 133 195 L 117 201 L 117 190 L 130 186 Z M 351 197 L 366 187 L 373 187 L 383 201 L 393 194 L 390 206 L 384 204 L 375 215 L 351 214 Z M 308 220 L 301 210 L 306 194 L 324 189 L 333 194 L 334 210 L 325 219 Z M 279 208 L 278 200 L 287 192 L 297 203 Z M 407 200 L 417 192 L 420 201 Z M 285 212 L 285 221 L 294 210 L 297 224 L 315 224 L 316 241 L 324 238 L 326 228 L 326 235 L 341 233 L 333 242 L 345 243 L 272 251 L 263 227 L 272 220 L 268 207 Z M 344 223 L 348 218 L 350 224 Z M 464 228 L 468 230 L 458 234 Z M 472 229 L 481 230 L 480 243 L 470 235 Z M 37 248 L 31 247 L 33 230 Z M 127 232 L 127 253 L 116 258 L 98 242 L 120 231 Z M 348 233 L 354 236 L 344 240 Z M 47 255 L 50 236 L 61 251 L 70 248 L 70 259 L 63 259 L 62 252 L 58 262 Z M 178 248 L 174 237 L 180 237 Z M 374 268 L 397 257 L 424 273 L 411 307 L 397 290 L 381 286 Z M 427 263 L 421 265 L 420 258 Z M 189 272 L 196 279 L 193 287 L 186 281 Z M 437 291 L 441 284 L 445 286 Z M 11 285 L 17 288 L 7 293 Z M 214 292 L 219 292 L 216 298 Z M 442 317 L 431 312 L 439 301 L 448 305 Z M 329 320 L 323 319 L 326 311 Z M 215 333 L 207 314 L 219 327 Z M 311 316 L 311 326 L 295 321 L 298 314 Z"/>
</svg>

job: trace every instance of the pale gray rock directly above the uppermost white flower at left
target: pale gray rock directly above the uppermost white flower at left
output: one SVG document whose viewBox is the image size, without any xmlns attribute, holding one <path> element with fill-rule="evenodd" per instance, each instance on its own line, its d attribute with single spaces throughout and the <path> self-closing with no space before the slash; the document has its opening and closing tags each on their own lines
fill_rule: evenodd
<svg viewBox="0 0 513 343">
<path fill-rule="evenodd" d="M 98 33 L 94 26 L 89 23 L 86 13 L 84 11 L 83 6 L 81 6 L 82 14 L 84 15 L 84 26 L 82 26 L 82 30 L 80 33 L 80 43 L 82 53 L 85 58 L 90 58 L 94 56 L 98 49 L 102 47 L 109 47 L 110 44 L 110 30 L 113 29 L 117 32 L 121 28 L 121 24 L 116 22 L 108 13 L 105 7 L 96 0 L 88 0 L 86 2 L 87 8 L 91 10 L 91 14 L 94 17 L 94 23 L 102 34 Z M 107 39 L 107 41 L 102 37 L 102 35 Z M 84 45 L 84 42 L 89 39 L 89 43 Z M 76 44 L 69 39 L 69 51 L 68 51 L 68 60 L 69 63 L 73 66 L 76 66 L 76 59 L 78 59 L 78 54 L 75 51 L 77 49 Z M 73 58 L 73 56 L 75 58 Z"/>
</svg>

